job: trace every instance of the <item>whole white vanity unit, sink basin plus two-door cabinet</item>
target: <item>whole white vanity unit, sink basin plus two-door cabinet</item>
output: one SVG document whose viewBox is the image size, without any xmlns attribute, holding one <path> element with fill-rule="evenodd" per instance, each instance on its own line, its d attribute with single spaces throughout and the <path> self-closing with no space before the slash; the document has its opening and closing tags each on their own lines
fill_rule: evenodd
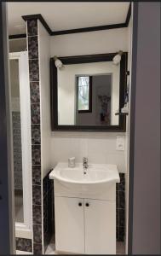
<svg viewBox="0 0 161 256">
<path fill-rule="evenodd" d="M 55 189 L 55 249 L 62 253 L 116 254 L 115 165 L 58 163 L 50 172 Z"/>
</svg>

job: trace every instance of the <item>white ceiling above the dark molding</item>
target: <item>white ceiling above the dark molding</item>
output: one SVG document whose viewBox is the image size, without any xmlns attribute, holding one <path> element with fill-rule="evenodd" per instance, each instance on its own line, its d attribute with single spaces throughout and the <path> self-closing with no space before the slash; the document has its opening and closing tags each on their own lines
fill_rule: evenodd
<svg viewBox="0 0 161 256">
<path fill-rule="evenodd" d="M 43 15 L 52 31 L 124 23 L 129 3 L 8 3 L 9 35 L 26 32 L 22 15 Z"/>
</svg>

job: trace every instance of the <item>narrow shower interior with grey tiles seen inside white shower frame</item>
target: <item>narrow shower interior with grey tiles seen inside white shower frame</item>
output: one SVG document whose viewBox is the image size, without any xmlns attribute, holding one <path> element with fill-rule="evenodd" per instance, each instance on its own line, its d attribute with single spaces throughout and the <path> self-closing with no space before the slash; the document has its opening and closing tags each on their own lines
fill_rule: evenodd
<svg viewBox="0 0 161 256">
<path fill-rule="evenodd" d="M 10 60 L 11 109 L 14 151 L 14 213 L 16 222 L 24 222 L 22 150 L 20 122 L 19 59 Z"/>
</svg>

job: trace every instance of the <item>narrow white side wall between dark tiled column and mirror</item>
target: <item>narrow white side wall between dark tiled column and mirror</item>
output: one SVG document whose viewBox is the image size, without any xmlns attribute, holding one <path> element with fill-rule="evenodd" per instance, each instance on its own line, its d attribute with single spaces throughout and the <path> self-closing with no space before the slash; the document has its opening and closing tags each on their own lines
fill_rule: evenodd
<svg viewBox="0 0 161 256">
<path fill-rule="evenodd" d="M 50 155 L 50 87 L 49 87 L 49 34 L 38 21 L 40 108 L 41 108 L 41 154 L 43 177 L 51 167 Z"/>
</svg>

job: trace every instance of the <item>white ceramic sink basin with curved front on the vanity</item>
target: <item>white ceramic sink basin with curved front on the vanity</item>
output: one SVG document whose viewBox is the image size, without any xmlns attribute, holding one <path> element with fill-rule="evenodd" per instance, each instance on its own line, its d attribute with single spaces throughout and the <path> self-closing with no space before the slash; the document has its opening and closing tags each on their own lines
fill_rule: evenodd
<svg viewBox="0 0 161 256">
<path fill-rule="evenodd" d="M 89 164 L 88 169 L 83 170 L 82 163 L 77 163 L 74 168 L 69 168 L 67 163 L 58 163 L 49 173 L 49 178 L 80 193 L 96 192 L 98 189 L 106 189 L 107 184 L 119 183 L 117 166 L 106 164 Z"/>
</svg>

